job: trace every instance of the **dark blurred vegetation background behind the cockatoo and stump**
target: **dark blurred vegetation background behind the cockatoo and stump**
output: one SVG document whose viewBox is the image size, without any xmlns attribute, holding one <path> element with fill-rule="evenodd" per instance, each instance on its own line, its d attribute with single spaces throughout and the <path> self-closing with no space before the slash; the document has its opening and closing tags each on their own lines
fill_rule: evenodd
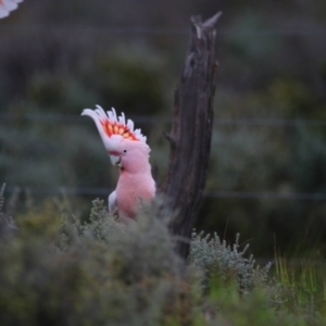
<svg viewBox="0 0 326 326">
<path fill-rule="evenodd" d="M 0 21 L 0 181 L 22 201 L 105 199 L 116 171 L 84 108 L 141 127 L 164 177 L 189 17 L 223 11 L 198 229 L 255 256 L 326 253 L 326 2 L 26 0 Z M 191 143 L 189 143 L 191 146 Z M 20 187 L 18 190 L 16 187 Z M 16 190 L 15 190 L 16 189 Z M 15 205 L 15 212 L 26 209 Z M 8 202 L 8 210 L 10 202 Z"/>
</svg>

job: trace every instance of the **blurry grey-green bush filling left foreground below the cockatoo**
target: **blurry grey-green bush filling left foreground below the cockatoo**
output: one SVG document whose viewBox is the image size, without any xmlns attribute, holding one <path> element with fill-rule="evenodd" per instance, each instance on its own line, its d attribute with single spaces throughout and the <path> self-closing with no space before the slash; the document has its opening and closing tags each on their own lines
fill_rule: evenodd
<svg viewBox="0 0 326 326">
<path fill-rule="evenodd" d="M 0 241 L 0 325 L 158 325 L 178 314 L 179 261 L 163 223 L 143 214 L 121 225 L 99 200 L 87 224 L 51 215 L 21 218 L 17 237 Z"/>
</svg>

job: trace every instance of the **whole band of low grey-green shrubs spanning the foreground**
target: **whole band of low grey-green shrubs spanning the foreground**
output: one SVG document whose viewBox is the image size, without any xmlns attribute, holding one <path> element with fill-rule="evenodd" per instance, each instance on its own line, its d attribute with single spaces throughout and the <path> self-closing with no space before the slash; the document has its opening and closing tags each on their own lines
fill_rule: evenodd
<svg viewBox="0 0 326 326">
<path fill-rule="evenodd" d="M 193 233 L 185 265 L 149 212 L 126 226 L 95 200 L 82 223 L 45 202 L 16 221 L 0 215 L 0 325 L 325 324 L 314 309 L 289 309 L 271 264 L 246 258 L 239 236 L 227 246 Z"/>
</svg>

